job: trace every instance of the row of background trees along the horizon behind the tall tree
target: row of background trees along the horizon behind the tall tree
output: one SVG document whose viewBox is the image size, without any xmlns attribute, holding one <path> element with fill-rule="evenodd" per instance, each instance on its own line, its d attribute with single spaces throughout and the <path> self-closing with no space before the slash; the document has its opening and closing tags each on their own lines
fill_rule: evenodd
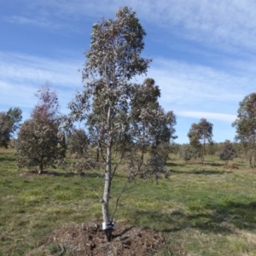
<svg viewBox="0 0 256 256">
<path fill-rule="evenodd" d="M 146 79 L 142 85 L 143 90 L 146 89 L 147 83 L 154 83 L 150 79 Z M 137 85 L 138 86 L 138 85 Z M 152 86 L 152 84 L 150 85 Z M 154 96 L 160 97 L 160 89 L 156 85 L 154 88 L 150 88 L 149 94 L 154 93 Z M 88 148 L 90 145 L 96 146 L 96 142 L 93 139 L 93 133 L 90 127 L 87 132 L 85 129 L 76 128 L 74 125 L 68 132 L 63 130 L 63 122 L 67 122 L 67 119 L 61 116 L 59 113 L 59 103 L 56 93 L 50 91 L 49 84 L 46 83 L 40 90 L 35 94 L 39 97 L 38 104 L 34 107 L 31 114 L 31 119 L 26 120 L 23 124 L 20 124 L 22 120 L 22 111 L 20 108 L 9 108 L 7 112 L 0 112 L 0 147 L 8 148 L 15 147 L 18 150 L 19 165 L 27 167 L 39 167 L 39 172 L 42 172 L 44 167 L 54 165 L 56 160 L 65 158 L 66 150 L 68 150 L 72 157 L 83 158 L 88 154 Z M 255 102 L 254 102 L 255 101 Z M 155 103 L 155 102 L 154 102 Z M 150 103 L 152 104 L 152 102 Z M 159 104 L 157 102 L 157 104 Z M 250 166 L 255 167 L 255 140 L 253 139 L 253 112 L 256 109 L 252 108 L 256 105 L 256 93 L 252 93 L 244 98 L 239 103 L 240 108 L 238 109 L 238 116 L 232 126 L 236 127 L 236 137 L 233 143 L 230 140 L 225 140 L 223 143 L 216 143 L 212 141 L 212 123 L 208 122 L 207 119 L 202 118 L 198 123 L 193 123 L 189 129 L 188 137 L 189 143 L 178 144 L 175 143 L 177 138 L 174 133 L 174 125 L 176 125 L 176 119 L 174 113 L 170 112 L 171 119 L 169 128 L 165 127 L 160 133 L 155 134 L 154 144 L 144 143 L 141 155 L 141 161 L 139 165 L 143 165 L 144 153 L 148 152 L 147 148 L 154 150 L 157 148 L 158 151 L 162 151 L 163 159 L 166 163 L 168 160 L 168 154 L 178 154 L 179 158 L 188 161 L 192 159 L 201 160 L 201 164 L 204 163 L 204 157 L 208 155 L 218 155 L 220 160 L 225 162 L 233 160 L 234 158 L 241 156 L 249 160 Z M 139 112 L 138 112 L 139 113 Z M 90 124 L 95 125 L 95 113 L 90 115 Z M 50 122 L 55 123 L 49 129 L 48 125 Z M 69 120 L 70 122 L 70 120 Z M 47 123 L 47 125 L 43 125 Z M 71 124 L 69 124 L 71 125 Z M 162 124 L 161 124 L 162 125 Z M 70 126 L 71 127 L 71 126 Z M 21 128 L 21 129 L 20 129 Z M 84 126 L 85 128 L 85 126 Z M 158 127 L 156 130 L 158 130 Z M 43 131 L 45 129 L 45 131 Z M 37 134 L 37 135 L 36 135 Z M 44 137 L 42 137 L 44 135 Z M 55 136 L 54 136 L 55 135 Z M 42 137 L 42 138 L 40 138 Z M 171 141 L 170 141 L 171 140 Z M 22 141 L 22 143 L 20 143 Z M 41 146 L 38 142 L 41 141 Z M 44 141 L 44 143 L 43 143 Z M 45 146 L 43 146 L 43 144 Z M 55 147 L 55 145 L 57 145 Z M 41 148 L 40 148 L 41 147 Z M 49 151 L 49 148 L 52 149 Z M 96 148 L 96 161 L 100 158 L 100 148 Z M 117 149 L 117 148 L 116 148 Z M 32 156 L 37 154 L 38 151 L 48 152 L 48 156 L 39 157 Z M 26 152 L 26 156 L 22 152 Z M 29 154 L 31 152 L 31 154 Z M 26 160 L 25 160 L 26 159 Z"/>
</svg>

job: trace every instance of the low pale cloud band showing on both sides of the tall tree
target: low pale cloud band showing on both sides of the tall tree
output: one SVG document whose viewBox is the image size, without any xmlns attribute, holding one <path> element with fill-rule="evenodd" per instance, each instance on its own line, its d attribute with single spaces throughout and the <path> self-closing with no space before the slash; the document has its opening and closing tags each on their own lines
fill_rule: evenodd
<svg viewBox="0 0 256 256">
<path fill-rule="evenodd" d="M 12 95 L 20 106 L 32 108 L 31 97 L 48 80 L 60 91 L 61 105 L 65 108 L 75 90 L 82 90 L 81 73 L 77 71 L 81 66 L 73 59 L 57 61 L 0 52 L 0 102 L 8 105 L 9 95 Z M 250 89 L 254 86 L 255 77 L 243 75 L 238 77 L 212 67 L 164 59 L 154 60 L 148 71 L 148 77 L 160 85 L 160 103 L 166 110 L 199 113 L 203 108 L 207 113 L 230 117 L 236 113 L 238 102 L 252 92 Z M 138 81 L 143 79 L 145 77 Z"/>
</svg>

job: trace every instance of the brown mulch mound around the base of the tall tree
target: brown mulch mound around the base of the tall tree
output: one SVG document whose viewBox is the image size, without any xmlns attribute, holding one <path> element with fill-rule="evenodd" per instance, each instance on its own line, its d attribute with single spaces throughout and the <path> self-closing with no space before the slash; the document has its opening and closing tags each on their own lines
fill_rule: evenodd
<svg viewBox="0 0 256 256">
<path fill-rule="evenodd" d="M 48 247 L 59 248 L 58 255 L 155 255 L 164 238 L 154 230 L 119 224 L 108 242 L 102 224 L 68 224 L 49 237 Z"/>
</svg>

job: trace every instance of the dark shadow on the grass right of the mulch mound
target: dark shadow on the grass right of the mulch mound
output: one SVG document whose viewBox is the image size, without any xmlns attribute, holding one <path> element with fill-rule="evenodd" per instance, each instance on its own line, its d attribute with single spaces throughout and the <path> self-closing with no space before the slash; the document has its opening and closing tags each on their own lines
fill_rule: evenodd
<svg viewBox="0 0 256 256">
<path fill-rule="evenodd" d="M 211 213 L 203 212 L 205 209 Z M 241 203 L 227 201 L 224 205 L 208 205 L 201 212 L 185 214 L 183 211 L 136 211 L 136 224 L 150 223 L 154 230 L 176 232 L 185 229 L 203 230 L 215 234 L 234 233 L 235 229 L 256 230 L 256 201 Z M 143 220 L 144 219 L 144 220 Z"/>
</svg>

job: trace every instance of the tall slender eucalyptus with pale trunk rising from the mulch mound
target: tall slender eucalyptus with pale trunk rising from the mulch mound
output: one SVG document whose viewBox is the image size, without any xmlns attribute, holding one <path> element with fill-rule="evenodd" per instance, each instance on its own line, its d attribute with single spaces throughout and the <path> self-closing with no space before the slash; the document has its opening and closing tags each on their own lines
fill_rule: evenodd
<svg viewBox="0 0 256 256">
<path fill-rule="evenodd" d="M 115 209 L 111 216 L 109 210 L 113 177 L 121 160 L 131 159 L 131 155 L 137 152 L 137 144 L 142 143 L 139 138 L 141 130 L 135 129 L 134 120 L 140 116 L 142 122 L 150 122 L 152 117 L 155 119 L 162 114 L 159 108 L 151 112 L 146 108 L 133 108 L 137 95 L 142 92 L 131 79 L 146 73 L 151 61 L 141 57 L 145 35 L 136 13 L 127 7 L 118 9 L 114 19 L 102 18 L 94 24 L 90 49 L 85 51 L 84 90 L 78 92 L 69 104 L 73 120 L 84 120 L 90 141 L 96 144 L 104 162 L 102 228 L 108 241 L 111 240 L 116 212 Z M 153 97 L 152 94 L 154 91 L 151 91 L 149 98 Z M 119 156 L 117 163 L 113 163 L 115 152 Z M 131 171 L 129 173 L 131 177 Z M 148 175 L 151 174 L 148 172 Z"/>
</svg>

